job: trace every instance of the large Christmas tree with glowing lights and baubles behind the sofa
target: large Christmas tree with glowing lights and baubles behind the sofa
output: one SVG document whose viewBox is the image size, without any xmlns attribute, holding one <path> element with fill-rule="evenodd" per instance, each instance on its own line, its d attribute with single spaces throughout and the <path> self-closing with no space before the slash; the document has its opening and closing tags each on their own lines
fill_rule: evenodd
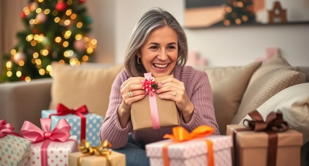
<svg viewBox="0 0 309 166">
<path fill-rule="evenodd" d="M 96 47 L 87 37 L 91 17 L 84 0 L 30 0 L 20 17 L 25 29 L 16 34 L 18 44 L 2 55 L 1 82 L 51 77 L 51 62 L 78 66 Z"/>
</svg>

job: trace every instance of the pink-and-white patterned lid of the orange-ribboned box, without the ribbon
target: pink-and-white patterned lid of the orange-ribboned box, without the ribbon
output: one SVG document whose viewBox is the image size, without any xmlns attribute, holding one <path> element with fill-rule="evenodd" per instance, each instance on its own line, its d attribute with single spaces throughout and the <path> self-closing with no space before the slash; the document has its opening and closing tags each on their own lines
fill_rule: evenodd
<svg viewBox="0 0 309 166">
<path fill-rule="evenodd" d="M 172 143 L 171 139 L 158 141 L 146 145 L 146 156 L 162 157 L 163 147 L 168 145 L 168 156 L 175 159 L 184 159 L 208 153 L 206 140 L 213 142 L 213 151 L 231 148 L 232 137 L 228 135 L 212 135 L 184 142 Z"/>
</svg>

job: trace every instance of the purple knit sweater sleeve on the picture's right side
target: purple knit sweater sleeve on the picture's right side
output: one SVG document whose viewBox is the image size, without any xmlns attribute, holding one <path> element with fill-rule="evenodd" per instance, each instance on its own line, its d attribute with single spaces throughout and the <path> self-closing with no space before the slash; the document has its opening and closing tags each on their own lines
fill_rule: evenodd
<svg viewBox="0 0 309 166">
<path fill-rule="evenodd" d="M 191 80 L 193 89 L 190 101 L 194 105 L 193 116 L 186 123 L 181 114 L 180 125 L 190 132 L 201 125 L 210 126 L 214 128 L 213 134 L 219 135 L 218 123 L 214 113 L 213 95 L 207 74 L 197 71 Z"/>
</svg>

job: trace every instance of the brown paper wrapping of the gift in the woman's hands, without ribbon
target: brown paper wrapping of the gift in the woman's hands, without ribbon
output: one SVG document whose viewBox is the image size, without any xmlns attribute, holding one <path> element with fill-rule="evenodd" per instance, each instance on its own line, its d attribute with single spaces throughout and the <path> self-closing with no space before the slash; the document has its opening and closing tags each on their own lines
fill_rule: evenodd
<svg viewBox="0 0 309 166">
<path fill-rule="evenodd" d="M 174 76 L 169 75 L 166 77 L 157 77 L 155 78 L 155 81 L 159 84 L 161 81 L 169 77 Z M 164 128 L 179 126 L 180 117 L 176 103 L 171 100 L 160 99 L 156 93 L 154 93 L 154 95 L 156 95 L 157 100 L 160 127 Z M 131 104 L 131 120 L 133 130 L 152 129 L 149 94 L 147 94 L 142 100 Z"/>
</svg>

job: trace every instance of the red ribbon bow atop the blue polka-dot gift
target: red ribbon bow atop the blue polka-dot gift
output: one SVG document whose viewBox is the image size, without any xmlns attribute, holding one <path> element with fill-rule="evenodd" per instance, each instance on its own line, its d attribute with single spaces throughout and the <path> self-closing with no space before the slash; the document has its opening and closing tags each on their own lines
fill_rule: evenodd
<svg viewBox="0 0 309 166">
<path fill-rule="evenodd" d="M 75 115 L 80 116 L 80 115 L 89 113 L 86 105 L 80 106 L 77 109 L 69 109 L 68 107 L 59 103 L 59 104 L 57 104 L 56 110 L 57 110 L 57 113 L 56 114 L 50 114 L 49 118 L 53 115 L 64 116 L 64 115 L 67 115 L 67 114 L 75 114 Z"/>
</svg>

